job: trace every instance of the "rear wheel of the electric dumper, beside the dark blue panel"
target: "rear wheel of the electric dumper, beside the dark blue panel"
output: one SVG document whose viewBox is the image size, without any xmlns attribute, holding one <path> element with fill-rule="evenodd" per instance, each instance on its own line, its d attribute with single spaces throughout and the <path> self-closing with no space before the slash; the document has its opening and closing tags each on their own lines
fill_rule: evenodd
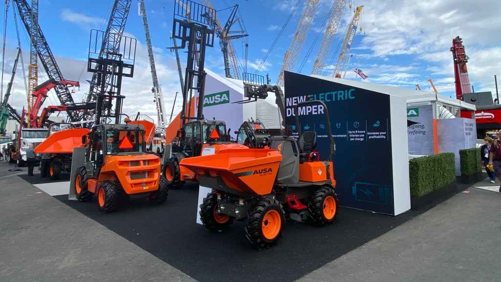
<svg viewBox="0 0 501 282">
<path fill-rule="evenodd" d="M 338 213 L 338 194 L 332 187 L 324 186 L 313 191 L 308 199 L 309 216 L 317 226 L 331 225 Z"/>
</svg>

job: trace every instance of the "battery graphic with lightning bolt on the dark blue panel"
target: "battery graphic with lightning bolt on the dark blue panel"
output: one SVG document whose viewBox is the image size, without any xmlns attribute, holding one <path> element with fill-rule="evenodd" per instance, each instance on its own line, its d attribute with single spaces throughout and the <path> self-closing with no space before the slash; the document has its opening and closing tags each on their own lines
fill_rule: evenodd
<svg viewBox="0 0 501 282">
<path fill-rule="evenodd" d="M 352 187 L 355 201 L 391 205 L 391 186 L 384 184 L 355 182 Z"/>
</svg>

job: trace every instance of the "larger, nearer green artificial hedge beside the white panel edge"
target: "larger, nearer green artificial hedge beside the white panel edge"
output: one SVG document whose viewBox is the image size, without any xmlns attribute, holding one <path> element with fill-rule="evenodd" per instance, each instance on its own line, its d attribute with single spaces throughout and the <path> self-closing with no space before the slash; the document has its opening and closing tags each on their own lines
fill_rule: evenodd
<svg viewBox="0 0 501 282">
<path fill-rule="evenodd" d="M 421 197 L 455 181 L 454 153 L 410 159 L 409 178 L 412 197 Z"/>
</svg>

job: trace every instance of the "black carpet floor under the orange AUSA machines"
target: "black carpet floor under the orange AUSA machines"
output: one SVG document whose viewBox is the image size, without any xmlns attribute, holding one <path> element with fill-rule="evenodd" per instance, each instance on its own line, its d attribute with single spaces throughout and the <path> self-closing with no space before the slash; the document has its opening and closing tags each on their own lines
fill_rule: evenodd
<svg viewBox="0 0 501 282">
<path fill-rule="evenodd" d="M 197 197 L 198 185 L 190 183 L 170 190 L 164 204 L 123 198 L 116 212 L 103 214 L 95 198 L 78 202 L 68 200 L 67 195 L 56 196 L 202 282 L 293 281 L 426 210 L 389 216 L 340 207 L 331 226 L 287 221 L 279 243 L 260 251 L 245 238 L 243 222 L 234 221 L 228 231 L 217 233 L 197 224 Z"/>
</svg>

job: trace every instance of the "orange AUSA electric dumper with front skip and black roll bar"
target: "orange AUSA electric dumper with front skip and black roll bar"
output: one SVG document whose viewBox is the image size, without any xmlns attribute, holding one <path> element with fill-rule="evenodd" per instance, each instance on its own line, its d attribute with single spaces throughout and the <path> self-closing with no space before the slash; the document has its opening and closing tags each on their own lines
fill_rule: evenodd
<svg viewBox="0 0 501 282">
<path fill-rule="evenodd" d="M 211 231 L 229 227 L 233 220 L 245 223 L 245 235 L 257 248 L 274 246 L 282 237 L 286 216 L 310 220 L 317 226 L 333 223 L 337 214 L 336 181 L 332 156 L 334 139 L 327 107 L 324 107 L 330 155 L 320 161 L 317 133 L 301 132 L 296 115 L 298 140 L 292 136 L 269 136 L 269 149 L 228 149 L 217 155 L 182 159 L 199 177 L 200 186 L 212 189 L 200 208 L 202 223 Z M 249 130 L 249 134 L 263 134 Z M 259 139 L 248 136 L 249 139 Z"/>
</svg>

